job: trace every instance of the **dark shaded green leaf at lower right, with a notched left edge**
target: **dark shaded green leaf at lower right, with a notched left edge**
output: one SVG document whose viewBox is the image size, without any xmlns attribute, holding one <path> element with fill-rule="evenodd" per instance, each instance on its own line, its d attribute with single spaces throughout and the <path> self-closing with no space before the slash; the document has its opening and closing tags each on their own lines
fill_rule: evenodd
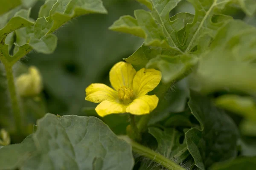
<svg viewBox="0 0 256 170">
<path fill-rule="evenodd" d="M 195 165 L 204 170 L 215 162 L 236 157 L 236 143 L 239 137 L 232 119 L 207 98 L 190 92 L 189 107 L 200 122 L 201 128 L 188 130 L 186 143 Z"/>
</svg>

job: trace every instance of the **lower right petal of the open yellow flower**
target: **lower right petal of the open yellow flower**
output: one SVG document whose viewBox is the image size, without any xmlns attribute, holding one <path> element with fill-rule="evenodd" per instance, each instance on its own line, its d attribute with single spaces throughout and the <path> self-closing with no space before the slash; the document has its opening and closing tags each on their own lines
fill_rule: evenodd
<svg viewBox="0 0 256 170">
<path fill-rule="evenodd" d="M 130 105 L 126 108 L 127 113 L 135 115 L 143 115 L 150 113 L 157 107 L 158 97 L 156 95 L 152 96 L 140 96 L 131 102 Z"/>
</svg>

